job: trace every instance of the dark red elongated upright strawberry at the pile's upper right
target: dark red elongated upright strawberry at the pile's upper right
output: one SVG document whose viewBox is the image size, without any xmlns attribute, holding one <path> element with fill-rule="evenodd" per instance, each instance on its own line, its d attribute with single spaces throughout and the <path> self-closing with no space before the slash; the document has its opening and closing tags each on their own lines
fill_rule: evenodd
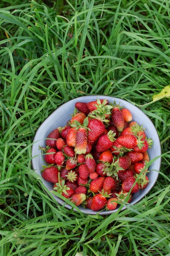
<svg viewBox="0 0 170 256">
<path fill-rule="evenodd" d="M 114 107 L 111 115 L 112 124 L 117 128 L 119 132 L 124 129 L 124 116 L 118 107 Z"/>
</svg>

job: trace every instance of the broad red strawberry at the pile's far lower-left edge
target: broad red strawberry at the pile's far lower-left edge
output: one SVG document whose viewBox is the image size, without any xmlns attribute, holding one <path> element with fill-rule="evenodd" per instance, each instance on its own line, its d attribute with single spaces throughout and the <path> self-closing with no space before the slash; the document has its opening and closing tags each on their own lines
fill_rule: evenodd
<svg viewBox="0 0 170 256">
<path fill-rule="evenodd" d="M 42 171 L 42 177 L 44 180 L 57 183 L 58 182 L 58 169 L 55 166 L 46 167 Z"/>
</svg>

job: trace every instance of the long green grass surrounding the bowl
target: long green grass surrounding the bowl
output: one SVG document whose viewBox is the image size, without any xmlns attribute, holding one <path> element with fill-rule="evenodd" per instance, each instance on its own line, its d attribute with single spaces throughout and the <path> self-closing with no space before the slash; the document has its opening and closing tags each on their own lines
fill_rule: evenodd
<svg viewBox="0 0 170 256">
<path fill-rule="evenodd" d="M 170 85 L 169 20 L 168 0 L 1 1 L 0 255 L 170 256 L 170 101 L 152 101 Z M 44 119 L 92 94 L 138 106 L 163 153 L 148 195 L 108 216 L 58 205 L 31 166 Z"/>
</svg>

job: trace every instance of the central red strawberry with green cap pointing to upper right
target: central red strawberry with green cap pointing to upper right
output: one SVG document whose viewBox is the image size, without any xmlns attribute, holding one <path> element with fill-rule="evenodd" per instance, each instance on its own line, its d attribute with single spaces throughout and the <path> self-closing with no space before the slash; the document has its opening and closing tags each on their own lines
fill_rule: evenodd
<svg viewBox="0 0 170 256">
<path fill-rule="evenodd" d="M 115 133 L 110 130 L 107 134 L 101 135 L 97 140 L 96 151 L 104 152 L 113 146 L 113 141 L 115 141 Z"/>
</svg>

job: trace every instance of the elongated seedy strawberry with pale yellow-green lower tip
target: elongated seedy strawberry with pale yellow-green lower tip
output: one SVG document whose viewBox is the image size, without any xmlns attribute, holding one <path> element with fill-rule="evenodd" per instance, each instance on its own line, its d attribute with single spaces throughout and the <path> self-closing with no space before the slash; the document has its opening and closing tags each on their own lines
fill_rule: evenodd
<svg viewBox="0 0 170 256">
<path fill-rule="evenodd" d="M 76 154 L 86 154 L 87 147 L 87 130 L 86 128 L 80 127 L 75 135 L 75 148 L 74 151 Z"/>
</svg>

